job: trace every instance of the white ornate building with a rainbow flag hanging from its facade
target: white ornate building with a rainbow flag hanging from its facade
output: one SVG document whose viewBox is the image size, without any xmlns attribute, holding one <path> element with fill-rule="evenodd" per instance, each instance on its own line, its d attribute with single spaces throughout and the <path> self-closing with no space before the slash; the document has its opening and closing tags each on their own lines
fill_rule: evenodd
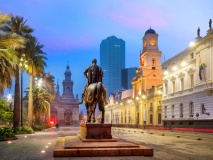
<svg viewBox="0 0 213 160">
<path fill-rule="evenodd" d="M 213 30 L 162 64 L 163 124 L 213 127 Z"/>
</svg>

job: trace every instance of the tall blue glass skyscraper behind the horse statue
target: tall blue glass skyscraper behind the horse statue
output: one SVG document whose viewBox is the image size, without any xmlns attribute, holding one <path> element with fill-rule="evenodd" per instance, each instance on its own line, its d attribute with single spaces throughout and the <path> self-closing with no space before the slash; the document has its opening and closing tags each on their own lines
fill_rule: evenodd
<svg viewBox="0 0 213 160">
<path fill-rule="evenodd" d="M 115 36 L 107 37 L 100 44 L 100 66 L 104 72 L 103 83 L 107 99 L 111 92 L 122 88 L 121 70 L 125 68 L 125 41 Z"/>
</svg>

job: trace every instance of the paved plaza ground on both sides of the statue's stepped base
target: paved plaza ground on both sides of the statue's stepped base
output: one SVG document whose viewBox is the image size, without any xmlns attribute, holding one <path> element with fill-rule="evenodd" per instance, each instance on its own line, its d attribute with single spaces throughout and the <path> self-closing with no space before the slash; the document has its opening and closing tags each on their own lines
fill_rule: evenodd
<svg viewBox="0 0 213 160">
<path fill-rule="evenodd" d="M 76 135 L 79 127 L 50 128 L 35 134 L 18 135 L 17 140 L 0 142 L 1 160 L 210 160 L 213 134 L 200 132 L 112 128 L 112 135 L 154 149 L 153 157 L 53 157 L 59 136 Z"/>
</svg>

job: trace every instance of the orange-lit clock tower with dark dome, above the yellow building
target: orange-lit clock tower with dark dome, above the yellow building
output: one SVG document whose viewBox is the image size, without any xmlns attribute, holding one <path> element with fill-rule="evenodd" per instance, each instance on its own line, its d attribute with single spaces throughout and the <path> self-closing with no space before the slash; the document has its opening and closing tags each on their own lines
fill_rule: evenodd
<svg viewBox="0 0 213 160">
<path fill-rule="evenodd" d="M 140 68 L 132 80 L 133 97 L 145 93 L 147 89 L 162 84 L 161 51 L 158 49 L 158 34 L 148 29 L 142 39 L 143 50 L 140 51 Z"/>
</svg>

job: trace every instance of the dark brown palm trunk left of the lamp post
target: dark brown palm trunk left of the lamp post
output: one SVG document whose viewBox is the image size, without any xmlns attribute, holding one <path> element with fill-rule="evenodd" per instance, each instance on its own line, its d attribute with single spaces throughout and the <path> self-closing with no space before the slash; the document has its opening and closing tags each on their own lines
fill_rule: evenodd
<svg viewBox="0 0 213 160">
<path fill-rule="evenodd" d="M 13 128 L 18 129 L 20 125 L 20 85 L 19 85 L 19 68 L 16 65 L 15 71 L 15 95 L 14 95 L 14 115 L 13 115 Z"/>
</svg>

